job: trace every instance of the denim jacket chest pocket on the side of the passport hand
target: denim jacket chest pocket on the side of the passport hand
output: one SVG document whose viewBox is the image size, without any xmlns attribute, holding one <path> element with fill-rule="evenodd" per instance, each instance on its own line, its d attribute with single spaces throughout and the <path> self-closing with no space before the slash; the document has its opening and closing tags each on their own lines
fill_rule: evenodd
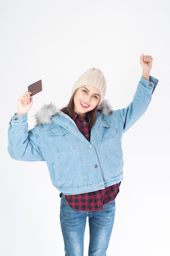
<svg viewBox="0 0 170 256">
<path fill-rule="evenodd" d="M 75 136 L 61 126 L 52 129 L 49 136 L 58 152 L 70 152 L 77 147 Z"/>
</svg>

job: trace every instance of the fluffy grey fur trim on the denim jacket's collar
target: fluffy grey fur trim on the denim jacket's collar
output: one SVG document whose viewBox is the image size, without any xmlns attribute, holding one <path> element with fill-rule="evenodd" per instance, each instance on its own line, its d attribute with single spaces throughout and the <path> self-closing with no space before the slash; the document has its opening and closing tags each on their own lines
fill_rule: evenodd
<svg viewBox="0 0 170 256">
<path fill-rule="evenodd" d="M 109 113 L 113 110 L 111 105 L 105 99 L 102 101 L 97 109 L 104 115 L 109 115 Z M 50 103 L 49 105 L 44 104 L 44 106 L 42 106 L 40 110 L 35 114 L 35 125 L 38 126 L 39 124 L 50 124 L 51 117 L 57 114 L 64 115 L 68 119 L 71 119 L 68 115 L 64 114 L 60 110 L 57 110 L 55 104 Z"/>
</svg>

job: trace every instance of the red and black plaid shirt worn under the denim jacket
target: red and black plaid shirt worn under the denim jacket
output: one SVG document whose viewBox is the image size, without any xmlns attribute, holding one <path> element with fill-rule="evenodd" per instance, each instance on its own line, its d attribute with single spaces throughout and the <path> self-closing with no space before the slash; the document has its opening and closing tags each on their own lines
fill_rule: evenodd
<svg viewBox="0 0 170 256">
<path fill-rule="evenodd" d="M 74 113 L 73 120 L 75 121 L 79 131 L 82 132 L 88 141 L 90 141 L 88 121 L 77 113 Z M 77 211 L 99 211 L 102 210 L 105 204 L 116 198 L 119 193 L 120 183 L 94 192 L 78 195 L 65 195 L 66 201 L 71 208 Z"/>
</svg>

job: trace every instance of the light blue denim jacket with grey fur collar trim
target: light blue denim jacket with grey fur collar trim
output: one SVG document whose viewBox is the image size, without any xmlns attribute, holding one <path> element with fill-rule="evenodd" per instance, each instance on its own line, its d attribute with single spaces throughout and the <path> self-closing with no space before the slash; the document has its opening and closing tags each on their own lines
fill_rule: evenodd
<svg viewBox="0 0 170 256">
<path fill-rule="evenodd" d="M 116 184 L 123 179 L 122 135 L 144 114 L 157 83 L 152 76 L 150 82 L 141 77 L 129 106 L 97 110 L 90 142 L 68 115 L 53 106 L 44 106 L 37 126 L 29 131 L 27 115 L 14 115 L 9 123 L 9 154 L 21 161 L 46 161 L 53 185 L 65 195 Z"/>
</svg>

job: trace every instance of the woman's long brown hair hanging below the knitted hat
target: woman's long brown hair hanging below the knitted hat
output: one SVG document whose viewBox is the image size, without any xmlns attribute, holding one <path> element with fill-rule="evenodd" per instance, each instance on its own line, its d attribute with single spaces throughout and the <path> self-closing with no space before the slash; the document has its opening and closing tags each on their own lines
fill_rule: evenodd
<svg viewBox="0 0 170 256">
<path fill-rule="evenodd" d="M 78 89 L 77 89 L 78 90 Z M 60 111 L 64 112 L 64 114 L 67 114 L 69 117 L 73 118 L 73 114 L 74 114 L 74 96 L 75 96 L 75 93 L 77 92 L 77 90 L 73 93 L 68 105 L 62 109 L 60 109 Z M 85 118 L 88 118 L 88 128 L 91 129 L 93 124 L 95 123 L 96 121 L 96 112 L 97 112 L 97 106 L 86 113 L 86 117 Z"/>
</svg>

